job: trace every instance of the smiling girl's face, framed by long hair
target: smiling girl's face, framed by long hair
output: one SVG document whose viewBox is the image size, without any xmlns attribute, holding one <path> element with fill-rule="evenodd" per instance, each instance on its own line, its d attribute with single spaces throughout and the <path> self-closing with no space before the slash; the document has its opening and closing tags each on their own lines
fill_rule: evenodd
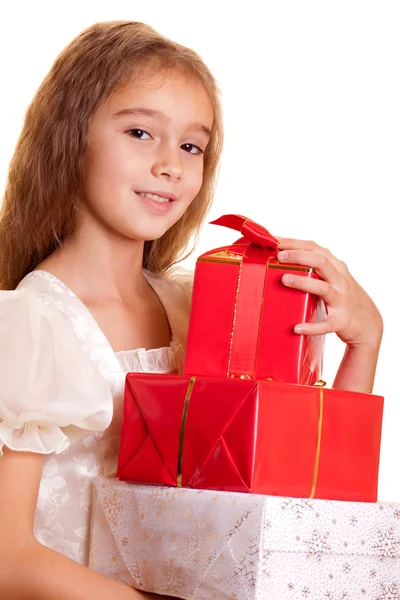
<svg viewBox="0 0 400 600">
<path fill-rule="evenodd" d="M 115 92 L 90 126 L 86 218 L 125 238 L 161 237 L 201 188 L 212 123 L 207 93 L 180 74 Z"/>
</svg>

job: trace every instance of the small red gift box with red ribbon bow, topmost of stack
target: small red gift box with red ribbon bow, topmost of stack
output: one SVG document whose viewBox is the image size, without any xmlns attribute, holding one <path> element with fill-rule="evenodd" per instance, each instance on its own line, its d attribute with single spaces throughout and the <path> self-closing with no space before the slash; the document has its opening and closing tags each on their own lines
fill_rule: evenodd
<svg viewBox="0 0 400 600">
<path fill-rule="evenodd" d="M 197 260 L 184 373 L 312 385 L 321 378 L 323 336 L 298 335 L 293 327 L 321 321 L 324 305 L 285 287 L 282 276 L 318 276 L 281 264 L 278 241 L 261 225 L 238 215 L 214 223 L 245 237 Z"/>
</svg>

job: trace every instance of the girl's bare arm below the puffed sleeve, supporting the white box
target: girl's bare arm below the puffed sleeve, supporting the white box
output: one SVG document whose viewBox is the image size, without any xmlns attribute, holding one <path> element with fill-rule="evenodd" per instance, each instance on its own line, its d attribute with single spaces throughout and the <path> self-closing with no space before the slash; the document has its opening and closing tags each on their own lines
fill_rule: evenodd
<svg viewBox="0 0 400 600">
<path fill-rule="evenodd" d="M 4 600 L 140 600 L 146 594 L 91 571 L 39 544 L 33 535 L 43 456 L 0 457 L 0 598 Z"/>
</svg>

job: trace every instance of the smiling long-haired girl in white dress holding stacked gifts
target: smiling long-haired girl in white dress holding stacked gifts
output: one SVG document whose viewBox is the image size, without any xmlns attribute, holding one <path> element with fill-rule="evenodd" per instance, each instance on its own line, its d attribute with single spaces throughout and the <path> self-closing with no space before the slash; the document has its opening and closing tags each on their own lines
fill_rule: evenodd
<svg viewBox="0 0 400 600">
<path fill-rule="evenodd" d="M 216 82 L 192 51 L 134 22 L 97 24 L 59 56 L 28 112 L 0 220 L 0 596 L 148 597 L 91 572 L 91 482 L 116 470 L 125 374 L 180 370 L 190 284 L 166 274 L 212 199 Z M 370 392 L 373 302 L 328 250 L 282 239 L 321 281 L 347 349 L 335 386 Z M 8 291 L 6 291 L 8 290 Z"/>
</svg>

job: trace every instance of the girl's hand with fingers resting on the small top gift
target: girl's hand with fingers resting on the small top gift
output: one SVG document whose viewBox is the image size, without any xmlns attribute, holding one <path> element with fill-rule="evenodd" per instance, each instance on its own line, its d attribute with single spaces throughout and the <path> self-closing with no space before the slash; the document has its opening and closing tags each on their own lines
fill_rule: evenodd
<svg viewBox="0 0 400 600">
<path fill-rule="evenodd" d="M 295 274 L 284 275 L 284 285 L 319 296 L 325 303 L 321 323 L 299 323 L 295 332 L 320 335 L 334 332 L 349 348 L 379 348 L 382 317 L 365 290 L 350 274 L 346 264 L 315 242 L 278 238 L 281 263 L 313 267 L 320 280 Z"/>
</svg>

